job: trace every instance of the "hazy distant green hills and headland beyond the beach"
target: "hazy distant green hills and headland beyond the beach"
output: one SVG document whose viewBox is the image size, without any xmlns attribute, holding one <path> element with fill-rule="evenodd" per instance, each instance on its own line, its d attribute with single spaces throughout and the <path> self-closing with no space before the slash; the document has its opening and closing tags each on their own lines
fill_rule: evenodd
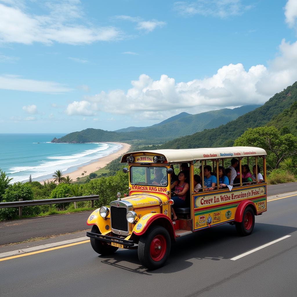
<svg viewBox="0 0 297 297">
<path fill-rule="evenodd" d="M 89 128 L 79 132 L 69 133 L 60 139 L 54 138 L 52 142 L 86 143 L 146 140 L 146 143 L 160 144 L 178 136 L 191 135 L 203 129 L 218 127 L 221 124 L 228 123 L 238 118 L 238 116 L 250 110 L 254 110 L 258 106 L 259 105 L 246 105 L 234 109 L 224 108 L 195 115 L 180 113 L 159 124 L 131 132 L 115 132 Z"/>
</svg>

